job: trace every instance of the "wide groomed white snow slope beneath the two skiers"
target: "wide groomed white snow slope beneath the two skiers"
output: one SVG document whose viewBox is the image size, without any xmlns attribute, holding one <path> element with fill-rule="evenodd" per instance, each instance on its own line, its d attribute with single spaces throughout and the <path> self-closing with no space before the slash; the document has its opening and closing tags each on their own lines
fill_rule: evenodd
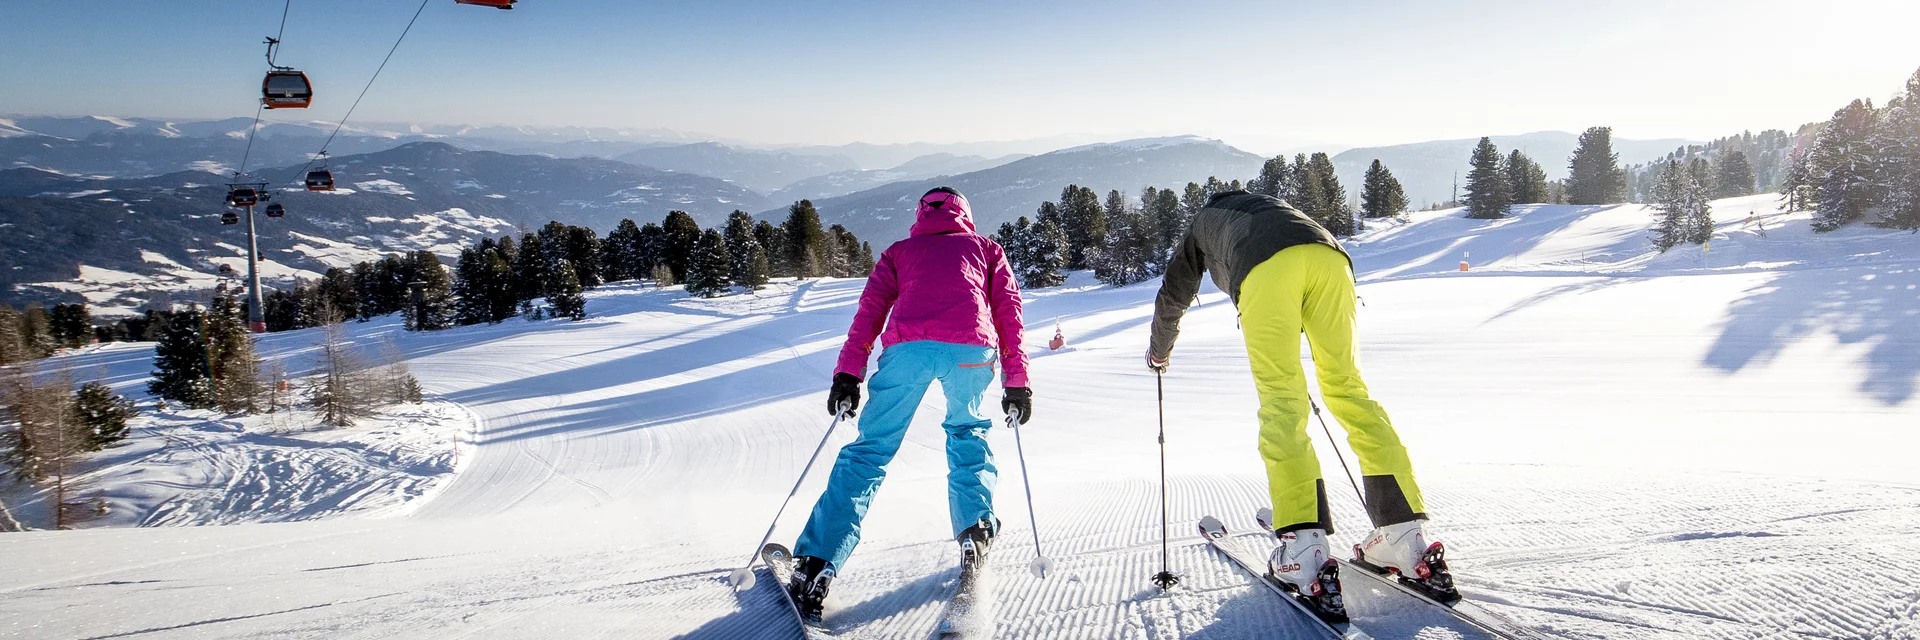
<svg viewBox="0 0 1920 640">
<path fill-rule="evenodd" d="M 1421 213 L 1356 248 L 1373 392 L 1409 444 L 1436 536 L 1482 605 L 1565 638 L 1920 636 L 1920 240 L 1805 231 L 1711 252 L 1642 248 L 1642 208 Z M 1461 254 L 1471 252 L 1471 258 Z M 1471 259 L 1475 271 L 1459 273 Z M 0 634 L 29 638 L 789 638 L 726 573 L 826 431 L 824 386 L 858 281 L 689 300 L 609 286 L 586 323 L 403 336 L 430 392 L 482 429 L 411 519 L 29 532 L 0 538 Z M 1181 590 L 1160 594 L 1154 284 L 1029 292 L 1025 427 L 1048 580 L 1012 434 L 996 429 L 1004 638 L 1286 636 L 1271 594 L 1190 534 L 1263 500 L 1231 304 L 1208 292 L 1167 375 Z M 839 580 L 828 621 L 920 638 L 954 578 L 935 396 Z M 1311 427 L 1317 432 L 1317 427 Z M 833 434 L 833 444 L 851 431 Z M 1329 486 L 1344 486 L 1321 436 Z M 824 473 L 776 540 L 791 542 Z M 1340 544 L 1365 532 L 1334 494 Z M 1365 602 L 1365 594 L 1356 600 Z M 1365 619 L 1363 619 L 1365 623 Z M 1382 638 L 1453 638 L 1379 619 Z"/>
</svg>

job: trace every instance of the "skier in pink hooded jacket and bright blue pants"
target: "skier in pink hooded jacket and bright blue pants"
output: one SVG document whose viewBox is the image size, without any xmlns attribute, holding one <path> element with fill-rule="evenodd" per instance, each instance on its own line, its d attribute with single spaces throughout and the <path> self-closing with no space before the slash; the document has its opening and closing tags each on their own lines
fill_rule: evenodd
<svg viewBox="0 0 1920 640">
<path fill-rule="evenodd" d="M 885 332 L 881 329 L 885 327 Z M 973 233 L 973 211 L 960 192 L 941 186 L 920 198 L 914 229 L 874 265 L 860 309 L 847 331 L 828 413 L 854 415 L 860 379 L 877 336 L 885 348 L 866 381 L 874 398 L 860 415 L 860 436 L 841 448 L 828 488 L 793 546 L 787 590 L 801 613 L 820 617 L 833 569 L 860 542 L 860 519 L 900 450 L 914 407 L 927 384 L 947 394 L 947 500 L 954 538 L 968 563 L 987 554 L 1000 521 L 993 517 L 996 471 L 987 450 L 981 396 L 998 361 L 1006 369 L 1000 409 L 1025 423 L 1033 413 L 1027 354 L 1020 350 L 1020 284 L 1000 244 Z"/>
</svg>

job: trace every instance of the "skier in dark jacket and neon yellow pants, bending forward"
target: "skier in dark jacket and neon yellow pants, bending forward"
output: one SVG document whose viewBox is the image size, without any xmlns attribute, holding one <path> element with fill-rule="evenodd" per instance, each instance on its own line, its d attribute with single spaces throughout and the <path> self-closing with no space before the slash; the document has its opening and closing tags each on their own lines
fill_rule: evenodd
<svg viewBox="0 0 1920 640">
<path fill-rule="evenodd" d="M 1308 438 L 1308 382 L 1300 334 L 1313 350 L 1313 369 L 1348 444 L 1359 457 L 1373 534 L 1354 548 L 1357 563 L 1394 571 L 1434 600 L 1459 600 L 1444 548 L 1428 544 L 1427 505 L 1413 482 L 1400 434 L 1359 377 L 1354 344 L 1354 265 L 1325 227 L 1271 196 L 1215 194 L 1194 215 L 1154 302 L 1146 365 L 1167 369 L 1181 315 L 1200 292 L 1202 271 L 1240 311 L 1246 356 L 1260 392 L 1260 455 L 1267 465 L 1273 527 L 1281 544 L 1267 571 L 1323 619 L 1346 621 L 1338 596 L 1340 565 L 1327 534 L 1327 484 Z"/>
</svg>

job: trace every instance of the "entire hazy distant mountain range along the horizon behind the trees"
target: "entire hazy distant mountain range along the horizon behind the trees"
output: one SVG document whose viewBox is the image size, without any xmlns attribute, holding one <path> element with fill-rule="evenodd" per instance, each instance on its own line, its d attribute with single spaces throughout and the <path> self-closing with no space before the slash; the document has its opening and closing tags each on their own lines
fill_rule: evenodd
<svg viewBox="0 0 1920 640">
<path fill-rule="evenodd" d="M 246 154 L 248 125 L 0 119 L 0 302 L 88 300 L 131 311 L 144 290 L 204 290 L 221 265 L 242 265 L 244 233 L 219 225 L 219 213 L 223 185 Z M 826 223 L 885 244 L 906 234 L 914 200 L 941 185 L 968 194 L 979 229 L 993 233 L 1068 185 L 1139 198 L 1148 185 L 1246 181 L 1263 161 L 1198 136 L 1021 156 L 956 152 L 1021 142 L 760 150 L 672 131 L 357 125 L 332 142 L 328 169 L 340 190 L 307 192 L 296 186 L 300 171 L 330 131 L 326 123 L 267 123 L 253 140 L 250 173 L 284 185 L 275 202 L 290 211 L 261 219 L 269 281 L 315 277 L 384 252 L 426 248 L 451 258 L 478 236 L 555 219 L 603 234 L 624 217 L 657 221 L 668 209 L 707 227 L 733 209 L 778 221 L 795 200 L 814 200 Z M 1549 177 L 1565 175 L 1574 140 L 1571 133 L 1494 136 L 1501 150 L 1534 156 Z M 1357 196 L 1361 173 L 1379 158 L 1413 206 L 1423 206 L 1452 194 L 1475 142 L 1356 148 L 1334 163 Z M 1680 144 L 1615 140 L 1615 150 L 1636 163 Z"/>
</svg>

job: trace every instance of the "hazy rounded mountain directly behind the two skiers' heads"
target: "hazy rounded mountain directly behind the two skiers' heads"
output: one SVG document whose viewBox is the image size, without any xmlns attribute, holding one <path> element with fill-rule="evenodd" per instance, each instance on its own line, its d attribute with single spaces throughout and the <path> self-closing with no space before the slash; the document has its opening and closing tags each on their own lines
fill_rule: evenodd
<svg viewBox="0 0 1920 640">
<path fill-rule="evenodd" d="M 889 242 L 906 236 L 914 221 L 914 202 L 933 186 L 958 188 L 973 204 L 973 221 L 983 233 L 1058 200 L 1068 185 L 1092 186 L 1106 194 L 1117 188 L 1131 198 L 1144 186 L 1181 188 L 1210 175 L 1221 181 L 1250 179 L 1260 173 L 1260 156 L 1219 140 L 1198 136 L 1139 138 L 1064 148 L 1016 160 L 998 167 L 939 179 L 893 183 L 847 196 L 816 200 L 820 219 L 845 225 L 860 238 Z M 768 211 L 781 215 L 781 211 Z"/>
</svg>

